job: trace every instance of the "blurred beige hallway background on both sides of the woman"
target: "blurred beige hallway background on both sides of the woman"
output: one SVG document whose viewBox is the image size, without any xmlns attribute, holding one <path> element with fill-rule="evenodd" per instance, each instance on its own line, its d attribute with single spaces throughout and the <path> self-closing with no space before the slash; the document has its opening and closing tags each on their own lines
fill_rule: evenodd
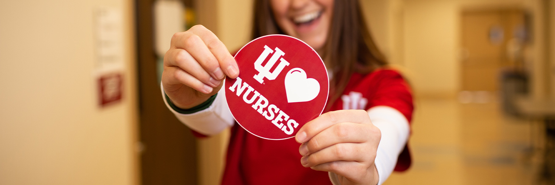
<svg viewBox="0 0 555 185">
<path fill-rule="evenodd" d="M 360 1 L 415 94 L 413 166 L 385 184 L 555 182 L 554 0 Z M 229 133 L 195 139 L 157 76 L 194 24 L 250 41 L 251 6 L 0 2 L 0 184 L 219 184 Z"/>
</svg>

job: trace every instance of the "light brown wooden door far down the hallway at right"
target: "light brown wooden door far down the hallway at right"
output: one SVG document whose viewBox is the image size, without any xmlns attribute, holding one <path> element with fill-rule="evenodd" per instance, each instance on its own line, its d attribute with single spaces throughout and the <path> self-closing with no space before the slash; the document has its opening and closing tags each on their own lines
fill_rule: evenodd
<svg viewBox="0 0 555 185">
<path fill-rule="evenodd" d="M 519 9 L 462 13 L 462 91 L 498 91 L 501 69 L 519 66 L 526 41 L 525 14 Z"/>
</svg>

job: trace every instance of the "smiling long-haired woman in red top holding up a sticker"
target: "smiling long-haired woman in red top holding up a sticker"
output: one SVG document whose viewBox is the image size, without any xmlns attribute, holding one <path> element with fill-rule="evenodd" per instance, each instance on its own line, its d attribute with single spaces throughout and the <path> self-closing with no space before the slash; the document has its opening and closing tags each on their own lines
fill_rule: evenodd
<svg viewBox="0 0 555 185">
<path fill-rule="evenodd" d="M 219 90 L 226 76 L 240 72 L 208 29 L 175 33 L 164 57 L 164 101 L 176 117 L 205 136 L 231 127 L 222 183 L 383 183 L 406 149 L 412 96 L 400 74 L 383 68 L 359 2 L 255 1 L 253 39 L 266 34 L 301 39 L 331 70 L 326 113 L 300 128 L 295 140 L 261 139 L 235 124 Z M 399 159 L 397 169 L 406 169 L 410 157 Z"/>
</svg>

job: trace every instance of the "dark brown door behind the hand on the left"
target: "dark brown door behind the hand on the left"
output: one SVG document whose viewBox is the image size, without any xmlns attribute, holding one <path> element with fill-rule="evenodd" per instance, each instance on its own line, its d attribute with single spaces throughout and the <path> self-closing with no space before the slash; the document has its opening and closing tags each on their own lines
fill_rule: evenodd
<svg viewBox="0 0 555 185">
<path fill-rule="evenodd" d="M 136 0 L 142 184 L 197 184 L 196 142 L 166 108 L 157 79 L 154 0 Z M 185 1 L 190 5 L 191 1 Z M 191 6 L 192 7 L 192 6 Z"/>
</svg>

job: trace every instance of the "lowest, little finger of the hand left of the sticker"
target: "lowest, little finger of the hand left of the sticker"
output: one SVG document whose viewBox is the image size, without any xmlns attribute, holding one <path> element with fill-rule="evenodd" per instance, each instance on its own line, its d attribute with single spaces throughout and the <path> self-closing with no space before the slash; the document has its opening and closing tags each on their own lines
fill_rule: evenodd
<svg viewBox="0 0 555 185">
<path fill-rule="evenodd" d="M 189 86 L 205 94 L 209 94 L 213 90 L 212 87 L 199 81 L 199 79 L 196 79 L 179 67 L 164 67 L 164 73 L 162 73 L 162 75 L 166 76 L 162 78 L 165 79 L 165 84 L 185 84 L 185 86 Z"/>
</svg>

